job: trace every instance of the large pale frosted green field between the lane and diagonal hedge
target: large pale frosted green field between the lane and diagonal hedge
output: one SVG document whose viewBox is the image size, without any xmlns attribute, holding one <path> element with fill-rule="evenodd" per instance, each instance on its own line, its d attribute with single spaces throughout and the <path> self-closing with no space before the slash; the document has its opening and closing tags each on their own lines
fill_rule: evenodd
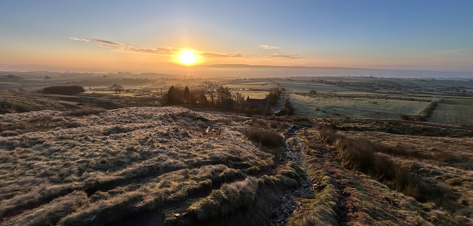
<svg viewBox="0 0 473 226">
<path fill-rule="evenodd" d="M 382 95 L 291 94 L 298 116 L 400 119 L 417 115 L 429 104 L 429 98 Z"/>
</svg>

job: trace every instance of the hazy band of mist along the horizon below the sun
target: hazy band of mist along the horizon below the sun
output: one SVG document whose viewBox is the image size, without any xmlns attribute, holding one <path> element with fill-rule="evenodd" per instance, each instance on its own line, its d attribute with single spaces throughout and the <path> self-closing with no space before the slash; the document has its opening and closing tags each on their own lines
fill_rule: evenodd
<svg viewBox="0 0 473 226">
<path fill-rule="evenodd" d="M 35 68 L 35 69 L 33 69 Z M 147 68 L 147 67 L 143 67 Z M 74 71 L 107 73 L 120 69 L 112 68 L 69 68 L 41 65 L 0 65 L 0 71 Z M 121 71 L 128 71 L 123 69 Z M 297 67 L 265 66 L 247 64 L 214 64 L 202 66 L 160 67 L 153 70 L 132 71 L 133 73 L 157 72 L 198 77 L 287 77 L 287 76 L 373 76 L 388 78 L 473 78 L 468 71 L 432 71 L 432 70 L 392 70 L 349 67 Z"/>
</svg>

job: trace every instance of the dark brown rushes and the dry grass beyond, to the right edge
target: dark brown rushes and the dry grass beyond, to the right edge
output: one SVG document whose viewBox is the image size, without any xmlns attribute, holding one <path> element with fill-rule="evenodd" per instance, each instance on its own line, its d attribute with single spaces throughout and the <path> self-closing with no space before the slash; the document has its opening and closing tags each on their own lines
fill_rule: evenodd
<svg viewBox="0 0 473 226">
<path fill-rule="evenodd" d="M 423 129 L 417 124 L 412 127 Z M 314 135 L 336 149 L 342 165 L 415 197 L 416 205 L 428 206 L 427 211 L 419 211 L 419 222 L 471 225 L 471 137 L 458 138 L 455 128 L 448 129 L 452 137 L 360 132 L 360 128 L 348 129 L 344 123 L 336 127 L 343 132 L 333 128 L 321 124 Z"/>
</svg>

